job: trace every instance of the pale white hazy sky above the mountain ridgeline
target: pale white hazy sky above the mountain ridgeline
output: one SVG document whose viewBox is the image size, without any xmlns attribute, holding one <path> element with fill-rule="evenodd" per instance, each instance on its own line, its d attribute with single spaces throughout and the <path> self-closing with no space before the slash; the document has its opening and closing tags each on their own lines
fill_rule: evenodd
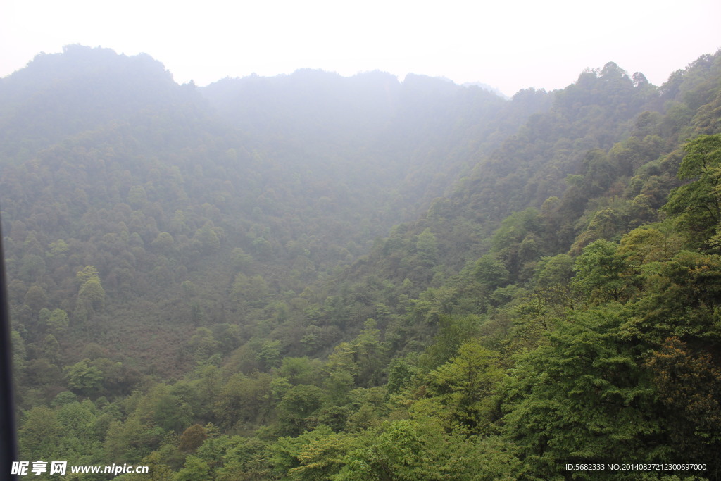
<svg viewBox="0 0 721 481">
<path fill-rule="evenodd" d="M 0 0 L 0 76 L 79 43 L 149 53 L 174 79 L 383 70 L 505 94 L 614 61 L 661 84 L 721 48 L 721 1 Z"/>
</svg>

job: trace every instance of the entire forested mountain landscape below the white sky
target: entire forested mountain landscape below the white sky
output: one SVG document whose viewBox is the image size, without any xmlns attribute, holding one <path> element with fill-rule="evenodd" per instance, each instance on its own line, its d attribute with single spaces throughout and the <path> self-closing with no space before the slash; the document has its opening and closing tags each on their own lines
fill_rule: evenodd
<svg viewBox="0 0 721 481">
<path fill-rule="evenodd" d="M 20 457 L 716 479 L 720 118 L 721 53 L 510 100 L 41 54 L 0 79 Z M 705 467 L 565 469 L 609 463 Z"/>
</svg>

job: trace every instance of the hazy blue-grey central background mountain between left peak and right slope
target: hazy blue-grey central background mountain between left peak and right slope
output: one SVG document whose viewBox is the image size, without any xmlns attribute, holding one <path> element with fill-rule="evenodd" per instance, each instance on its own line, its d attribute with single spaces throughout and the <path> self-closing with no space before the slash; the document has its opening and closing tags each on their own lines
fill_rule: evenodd
<svg viewBox="0 0 721 481">
<path fill-rule="evenodd" d="M 398 209 L 427 206 L 470 159 L 548 105 L 524 95 L 508 102 L 485 89 L 428 76 L 408 74 L 400 82 L 379 71 L 343 78 L 306 69 L 224 79 L 199 90 L 222 118 L 273 146 L 285 162 L 312 168 L 332 153 L 335 159 L 322 169 L 343 166 L 344 182 L 376 175 L 369 182 L 401 195 L 404 206 Z M 431 181 L 439 171 L 443 180 Z"/>
</svg>

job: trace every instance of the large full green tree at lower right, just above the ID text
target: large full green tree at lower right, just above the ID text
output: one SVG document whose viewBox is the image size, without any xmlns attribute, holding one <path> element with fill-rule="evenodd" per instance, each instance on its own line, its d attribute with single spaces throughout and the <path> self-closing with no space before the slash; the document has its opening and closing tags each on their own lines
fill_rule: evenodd
<svg viewBox="0 0 721 481">
<path fill-rule="evenodd" d="M 535 475 L 619 456 L 668 462 L 655 390 L 623 327 L 609 309 L 576 313 L 510 371 L 503 431 Z"/>
</svg>

